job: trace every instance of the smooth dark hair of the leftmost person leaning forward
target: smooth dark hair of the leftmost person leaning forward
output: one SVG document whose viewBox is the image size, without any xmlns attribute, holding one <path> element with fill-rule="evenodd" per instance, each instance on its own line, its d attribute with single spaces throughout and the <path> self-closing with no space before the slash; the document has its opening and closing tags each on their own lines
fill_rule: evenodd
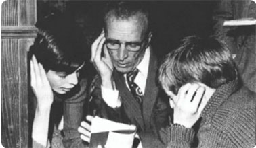
<svg viewBox="0 0 256 148">
<path fill-rule="evenodd" d="M 46 71 L 75 71 L 89 60 L 81 30 L 66 15 L 49 15 L 35 26 L 38 34 L 30 54 L 34 54 Z"/>
</svg>

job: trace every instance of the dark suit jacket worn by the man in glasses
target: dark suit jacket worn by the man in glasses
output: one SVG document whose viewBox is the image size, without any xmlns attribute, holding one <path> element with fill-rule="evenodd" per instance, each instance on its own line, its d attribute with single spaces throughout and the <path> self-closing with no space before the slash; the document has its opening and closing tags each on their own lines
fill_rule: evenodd
<svg viewBox="0 0 256 148">
<path fill-rule="evenodd" d="M 99 76 L 96 76 L 91 84 L 91 100 L 89 102 L 91 114 L 115 122 L 135 124 L 143 147 L 159 147 L 163 143 L 158 140 L 156 131 L 160 127 L 167 126 L 170 107 L 167 96 L 157 84 L 157 72 L 158 61 L 151 51 L 142 108 L 127 88 L 123 74 L 116 70 L 113 71 L 113 76 L 122 105 L 120 108 L 110 108 L 102 99 L 101 80 Z"/>
</svg>

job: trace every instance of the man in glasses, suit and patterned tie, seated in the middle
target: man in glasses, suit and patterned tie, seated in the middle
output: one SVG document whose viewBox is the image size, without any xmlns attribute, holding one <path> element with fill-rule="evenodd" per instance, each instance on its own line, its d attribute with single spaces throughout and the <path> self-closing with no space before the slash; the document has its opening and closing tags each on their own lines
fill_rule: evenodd
<svg viewBox="0 0 256 148">
<path fill-rule="evenodd" d="M 169 106 L 156 83 L 158 62 L 150 46 L 148 11 L 141 6 L 126 1 L 106 10 L 104 32 L 91 48 L 91 61 L 99 75 L 92 84 L 91 104 L 95 105 L 93 115 L 135 124 L 142 146 L 156 147 L 161 141 L 154 131 L 167 125 Z M 89 131 L 89 124 L 81 126 Z M 85 129 L 79 132 L 89 141 Z"/>
</svg>

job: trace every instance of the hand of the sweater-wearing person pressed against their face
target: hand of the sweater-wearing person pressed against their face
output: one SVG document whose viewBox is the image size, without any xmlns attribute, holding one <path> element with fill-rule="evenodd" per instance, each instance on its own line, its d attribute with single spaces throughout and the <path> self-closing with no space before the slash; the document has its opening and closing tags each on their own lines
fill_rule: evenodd
<svg viewBox="0 0 256 148">
<path fill-rule="evenodd" d="M 186 84 L 179 89 L 176 98 L 170 100 L 173 104 L 173 123 L 191 128 L 200 118 L 200 114 L 207 104 L 205 86 L 198 83 Z"/>
</svg>

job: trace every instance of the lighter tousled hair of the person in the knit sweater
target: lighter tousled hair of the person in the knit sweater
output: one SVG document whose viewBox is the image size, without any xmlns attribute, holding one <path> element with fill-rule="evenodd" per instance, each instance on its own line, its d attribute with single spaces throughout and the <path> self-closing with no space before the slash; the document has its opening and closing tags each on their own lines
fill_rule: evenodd
<svg viewBox="0 0 256 148">
<path fill-rule="evenodd" d="M 177 94 L 186 83 L 201 82 L 217 88 L 236 77 L 236 67 L 225 44 L 213 37 L 188 36 L 182 46 L 167 54 L 158 79 L 164 89 Z"/>
</svg>

